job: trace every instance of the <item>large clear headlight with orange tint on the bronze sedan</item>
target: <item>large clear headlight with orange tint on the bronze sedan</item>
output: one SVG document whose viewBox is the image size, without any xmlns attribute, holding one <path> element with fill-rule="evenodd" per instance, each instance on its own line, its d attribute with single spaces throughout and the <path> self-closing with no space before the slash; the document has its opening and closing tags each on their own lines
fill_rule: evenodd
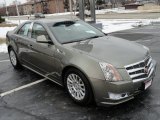
<svg viewBox="0 0 160 120">
<path fill-rule="evenodd" d="M 111 64 L 100 62 L 99 65 L 100 65 L 100 67 L 104 73 L 104 77 L 107 81 L 122 80 L 118 71 Z"/>
</svg>

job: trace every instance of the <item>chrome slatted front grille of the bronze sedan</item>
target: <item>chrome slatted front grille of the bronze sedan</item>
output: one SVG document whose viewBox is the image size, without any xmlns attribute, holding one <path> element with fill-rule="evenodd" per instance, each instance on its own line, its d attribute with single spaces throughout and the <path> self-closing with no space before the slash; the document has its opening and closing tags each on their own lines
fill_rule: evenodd
<svg viewBox="0 0 160 120">
<path fill-rule="evenodd" d="M 149 78 L 154 71 L 152 57 L 149 56 L 142 61 L 127 65 L 125 69 L 133 82 Z"/>
</svg>

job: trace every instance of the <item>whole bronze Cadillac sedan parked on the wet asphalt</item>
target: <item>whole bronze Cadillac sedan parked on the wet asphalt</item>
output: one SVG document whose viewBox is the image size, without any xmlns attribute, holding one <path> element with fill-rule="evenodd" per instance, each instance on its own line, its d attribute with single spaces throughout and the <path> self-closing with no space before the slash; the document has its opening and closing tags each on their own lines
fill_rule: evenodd
<svg viewBox="0 0 160 120">
<path fill-rule="evenodd" d="M 116 105 L 151 86 L 156 62 L 143 45 L 81 20 L 28 21 L 7 33 L 10 61 L 64 86 L 81 105 Z"/>
</svg>

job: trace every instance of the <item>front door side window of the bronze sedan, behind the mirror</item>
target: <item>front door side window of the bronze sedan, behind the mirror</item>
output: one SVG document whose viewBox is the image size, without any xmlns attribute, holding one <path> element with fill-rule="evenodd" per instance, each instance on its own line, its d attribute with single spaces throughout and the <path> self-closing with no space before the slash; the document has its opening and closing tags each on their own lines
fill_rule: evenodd
<svg viewBox="0 0 160 120">
<path fill-rule="evenodd" d="M 37 39 L 40 35 L 44 35 L 48 40 L 50 40 L 45 28 L 42 25 L 35 23 L 32 28 L 32 38 Z"/>
</svg>

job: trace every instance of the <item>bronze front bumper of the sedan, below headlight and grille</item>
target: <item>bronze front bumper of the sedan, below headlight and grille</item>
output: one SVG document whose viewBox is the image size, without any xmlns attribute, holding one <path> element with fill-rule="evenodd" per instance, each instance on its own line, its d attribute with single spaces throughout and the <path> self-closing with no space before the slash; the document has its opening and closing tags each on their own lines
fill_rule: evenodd
<svg viewBox="0 0 160 120">
<path fill-rule="evenodd" d="M 117 105 L 129 101 L 135 95 L 145 90 L 144 83 L 154 79 L 156 71 L 156 62 L 153 61 L 154 71 L 149 78 L 141 81 L 133 82 L 131 80 L 123 80 L 119 82 L 106 82 L 105 80 L 92 79 L 92 87 L 97 105 L 110 106 Z M 119 99 L 113 99 L 110 93 L 122 95 Z"/>
</svg>

